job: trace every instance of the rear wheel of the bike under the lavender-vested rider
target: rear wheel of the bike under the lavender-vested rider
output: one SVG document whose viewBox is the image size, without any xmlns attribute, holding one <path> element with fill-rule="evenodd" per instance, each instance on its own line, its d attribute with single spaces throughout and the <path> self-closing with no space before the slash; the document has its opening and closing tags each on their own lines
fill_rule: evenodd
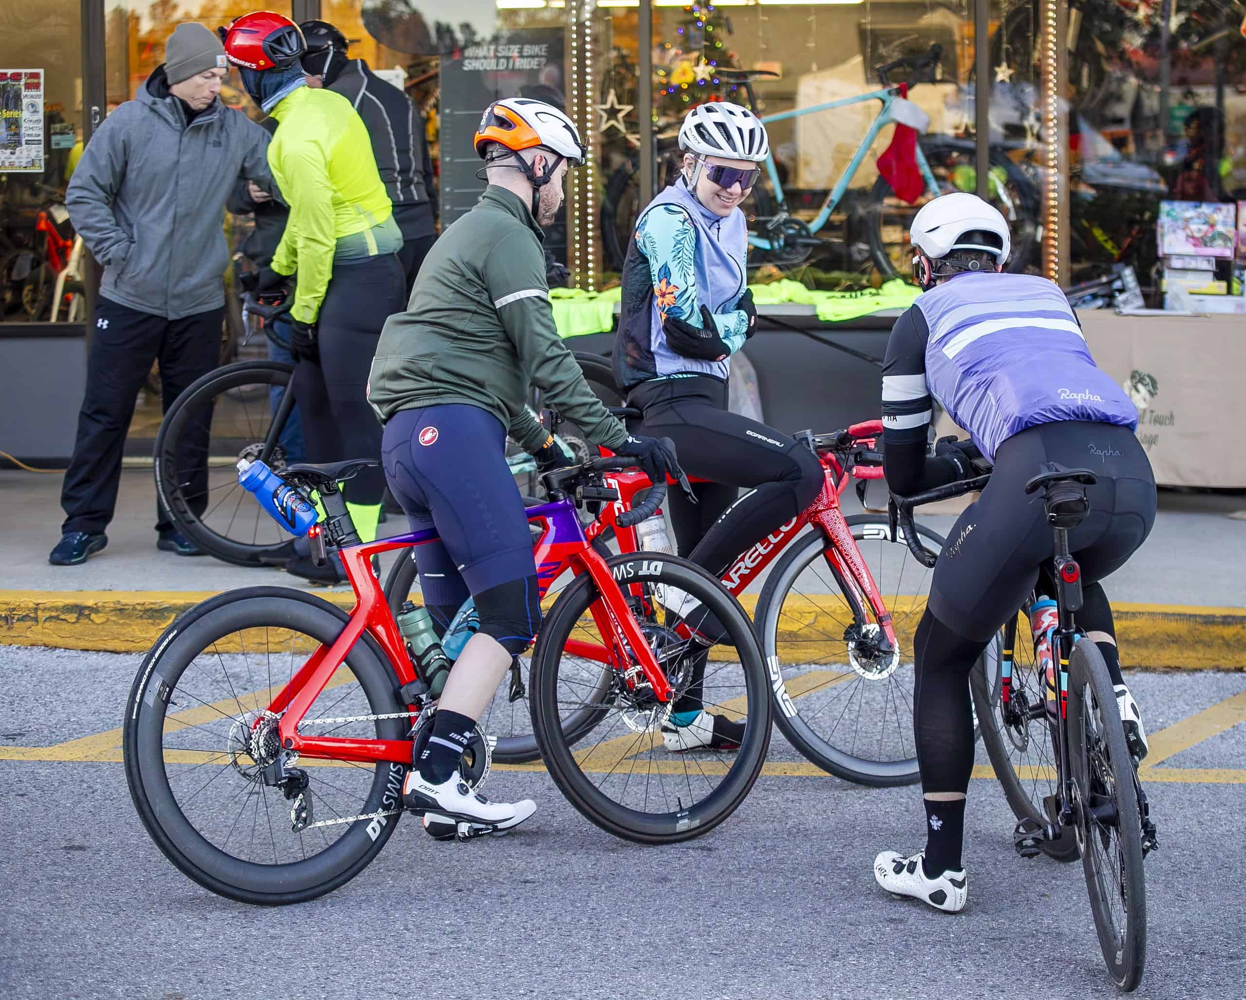
<svg viewBox="0 0 1246 1000">
<path fill-rule="evenodd" d="M 1135 990 L 1146 964 L 1146 879 L 1134 763 L 1103 653 L 1087 638 L 1069 656 L 1069 769 L 1090 910 L 1115 984 Z"/>
</svg>

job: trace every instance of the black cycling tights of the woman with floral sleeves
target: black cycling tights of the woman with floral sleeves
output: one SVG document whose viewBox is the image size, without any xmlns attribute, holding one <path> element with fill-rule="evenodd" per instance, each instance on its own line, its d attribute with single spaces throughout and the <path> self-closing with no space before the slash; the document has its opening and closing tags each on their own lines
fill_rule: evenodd
<svg viewBox="0 0 1246 1000">
<path fill-rule="evenodd" d="M 647 382 L 628 395 L 644 411 L 644 433 L 670 438 L 694 486 L 668 499 L 679 555 L 721 575 L 741 552 L 807 507 L 822 489 L 822 466 L 805 445 L 726 409 L 726 383 L 708 375 Z M 753 488 L 735 500 L 738 488 Z M 733 502 L 734 501 L 734 502 Z"/>
</svg>

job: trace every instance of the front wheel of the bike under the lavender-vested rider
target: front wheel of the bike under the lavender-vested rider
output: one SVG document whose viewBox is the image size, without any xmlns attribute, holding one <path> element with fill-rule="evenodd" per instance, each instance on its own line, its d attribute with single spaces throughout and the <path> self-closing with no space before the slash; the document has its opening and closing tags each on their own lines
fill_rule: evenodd
<svg viewBox="0 0 1246 1000">
<path fill-rule="evenodd" d="M 1001 700 L 1001 657 L 1012 650 L 1012 697 Z M 1034 662 L 1029 612 L 1022 608 L 1012 622 L 999 630 L 987 651 L 969 672 L 969 693 L 978 717 L 982 743 L 991 766 L 1004 789 L 1004 798 L 1018 819 L 1055 824 L 1047 803 L 1059 791 L 1059 744 L 1047 713 L 1045 678 Z M 1040 849 L 1058 862 L 1075 862 L 1078 845 L 1062 832 L 1054 840 L 1043 840 Z"/>
</svg>

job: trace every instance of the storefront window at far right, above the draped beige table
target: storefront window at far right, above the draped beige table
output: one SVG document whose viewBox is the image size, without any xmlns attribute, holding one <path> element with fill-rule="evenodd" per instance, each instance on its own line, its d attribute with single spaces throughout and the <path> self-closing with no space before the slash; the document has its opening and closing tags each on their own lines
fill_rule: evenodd
<svg viewBox="0 0 1246 1000">
<path fill-rule="evenodd" d="M 1158 4 L 1126 11 L 1113 0 L 1085 0 L 1070 12 L 1073 281 L 1129 266 L 1149 304 L 1161 305 L 1160 216 L 1185 227 L 1192 254 L 1217 236 L 1202 226 L 1215 209 L 1200 206 L 1222 203 L 1239 226 L 1246 221 L 1237 211 L 1246 198 L 1240 20 L 1230 7 L 1175 4 L 1165 34 Z M 1207 263 L 1215 268 L 1209 282 L 1240 292 L 1232 259 Z"/>
</svg>

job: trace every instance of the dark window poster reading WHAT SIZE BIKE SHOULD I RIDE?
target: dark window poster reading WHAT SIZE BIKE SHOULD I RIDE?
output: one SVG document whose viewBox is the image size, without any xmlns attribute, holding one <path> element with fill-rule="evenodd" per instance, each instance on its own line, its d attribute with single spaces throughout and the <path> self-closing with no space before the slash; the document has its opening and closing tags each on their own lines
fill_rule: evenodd
<svg viewBox="0 0 1246 1000">
<path fill-rule="evenodd" d="M 566 111 L 563 29 L 500 31 L 442 57 L 442 227 L 470 211 L 485 191 L 485 181 L 476 177 L 483 162 L 476 156 L 472 137 L 481 112 L 502 97 L 531 97 Z M 546 246 L 552 249 L 548 242 Z"/>
</svg>

